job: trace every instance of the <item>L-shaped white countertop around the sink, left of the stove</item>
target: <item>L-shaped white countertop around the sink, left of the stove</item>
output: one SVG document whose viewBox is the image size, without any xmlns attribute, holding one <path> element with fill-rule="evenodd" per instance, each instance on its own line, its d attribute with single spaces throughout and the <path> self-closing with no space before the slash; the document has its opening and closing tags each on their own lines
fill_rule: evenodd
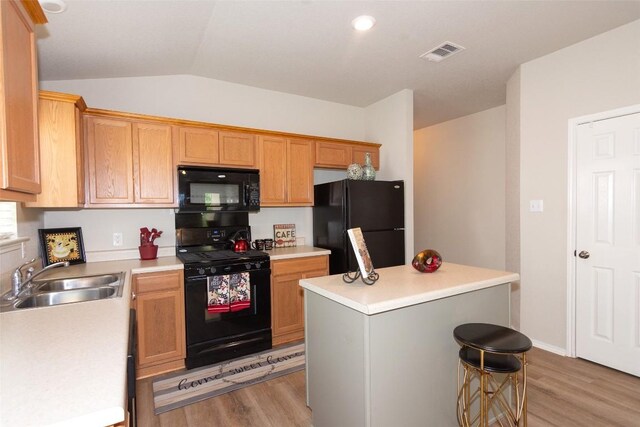
<svg viewBox="0 0 640 427">
<path fill-rule="evenodd" d="M 182 269 L 175 257 L 58 268 L 125 271 L 122 297 L 0 314 L 0 425 L 106 426 L 124 420 L 131 274 Z"/>
</svg>

